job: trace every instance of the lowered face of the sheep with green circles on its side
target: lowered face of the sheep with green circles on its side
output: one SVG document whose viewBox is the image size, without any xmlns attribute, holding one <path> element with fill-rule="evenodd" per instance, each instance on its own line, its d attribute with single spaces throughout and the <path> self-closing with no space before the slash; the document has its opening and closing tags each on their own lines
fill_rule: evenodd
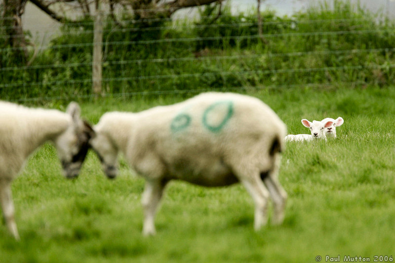
<svg viewBox="0 0 395 263">
<path fill-rule="evenodd" d="M 118 150 L 110 139 L 97 132 L 94 138 L 89 142 L 90 147 L 94 150 L 102 163 L 104 173 L 110 179 L 115 178 L 118 175 L 117 158 Z"/>
</svg>

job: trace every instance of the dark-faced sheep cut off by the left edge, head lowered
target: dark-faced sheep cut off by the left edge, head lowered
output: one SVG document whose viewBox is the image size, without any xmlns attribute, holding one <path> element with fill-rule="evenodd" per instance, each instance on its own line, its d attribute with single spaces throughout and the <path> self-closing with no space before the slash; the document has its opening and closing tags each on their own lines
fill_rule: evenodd
<svg viewBox="0 0 395 263">
<path fill-rule="evenodd" d="M 66 113 L 34 109 L 0 101 L 0 203 L 5 224 L 19 240 L 14 219 L 11 182 L 29 155 L 52 141 L 64 175 L 76 177 L 88 151 L 90 130 L 79 117 L 79 105 L 70 103 Z"/>
</svg>

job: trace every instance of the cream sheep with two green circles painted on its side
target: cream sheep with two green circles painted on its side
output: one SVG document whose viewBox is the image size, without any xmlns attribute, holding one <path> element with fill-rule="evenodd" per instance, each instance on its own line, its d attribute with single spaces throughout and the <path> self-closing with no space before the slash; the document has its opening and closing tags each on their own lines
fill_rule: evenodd
<svg viewBox="0 0 395 263">
<path fill-rule="evenodd" d="M 145 178 L 143 234 L 156 233 L 154 218 L 173 179 L 205 187 L 240 182 L 255 203 L 254 228 L 284 219 L 287 194 L 278 182 L 286 126 L 262 101 L 235 93 L 208 92 L 184 102 L 139 113 L 105 113 L 90 140 L 108 178 L 117 176 L 117 156 Z"/>
</svg>

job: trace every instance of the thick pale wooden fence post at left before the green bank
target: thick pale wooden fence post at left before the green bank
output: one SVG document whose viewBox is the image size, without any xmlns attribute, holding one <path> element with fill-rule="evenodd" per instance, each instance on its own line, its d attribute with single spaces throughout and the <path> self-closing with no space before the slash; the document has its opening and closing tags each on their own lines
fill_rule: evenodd
<svg viewBox="0 0 395 263">
<path fill-rule="evenodd" d="M 103 24 L 100 0 L 96 2 L 96 14 L 93 24 L 93 60 L 92 60 L 92 91 L 96 96 L 102 95 L 102 57 L 103 57 Z"/>
</svg>

